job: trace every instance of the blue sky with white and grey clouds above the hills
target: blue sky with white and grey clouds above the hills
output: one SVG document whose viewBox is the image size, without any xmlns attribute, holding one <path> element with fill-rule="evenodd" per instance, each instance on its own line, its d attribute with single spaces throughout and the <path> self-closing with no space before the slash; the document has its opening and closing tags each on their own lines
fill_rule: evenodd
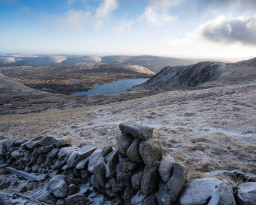
<svg viewBox="0 0 256 205">
<path fill-rule="evenodd" d="M 0 53 L 256 56 L 256 1 L 0 0 Z"/>
</svg>

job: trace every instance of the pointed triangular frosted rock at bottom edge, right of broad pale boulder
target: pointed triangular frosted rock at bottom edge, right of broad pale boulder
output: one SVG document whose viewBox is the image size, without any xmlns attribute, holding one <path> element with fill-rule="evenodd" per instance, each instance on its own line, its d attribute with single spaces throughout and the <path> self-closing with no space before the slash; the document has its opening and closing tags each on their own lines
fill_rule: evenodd
<svg viewBox="0 0 256 205">
<path fill-rule="evenodd" d="M 215 189 L 208 205 L 236 205 L 232 186 L 227 179 L 222 180 Z"/>
</svg>

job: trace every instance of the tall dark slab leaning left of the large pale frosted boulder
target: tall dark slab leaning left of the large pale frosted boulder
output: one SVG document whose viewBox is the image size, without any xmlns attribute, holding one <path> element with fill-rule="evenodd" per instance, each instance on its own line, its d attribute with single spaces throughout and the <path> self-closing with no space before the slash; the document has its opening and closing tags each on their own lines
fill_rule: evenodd
<svg viewBox="0 0 256 205">
<path fill-rule="evenodd" d="M 181 165 L 181 163 L 175 162 L 174 173 L 167 183 L 167 187 L 170 190 L 169 195 L 172 201 L 177 199 L 182 187 L 187 182 L 187 174 L 187 168 L 184 165 Z"/>
</svg>

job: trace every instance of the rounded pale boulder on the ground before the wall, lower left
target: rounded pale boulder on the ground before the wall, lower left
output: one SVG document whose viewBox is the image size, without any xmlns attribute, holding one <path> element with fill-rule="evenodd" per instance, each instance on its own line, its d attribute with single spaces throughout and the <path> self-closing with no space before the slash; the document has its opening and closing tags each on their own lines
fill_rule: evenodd
<svg viewBox="0 0 256 205">
<path fill-rule="evenodd" d="M 67 183 L 58 175 L 49 180 L 46 190 L 56 197 L 65 197 L 68 195 Z"/>
</svg>

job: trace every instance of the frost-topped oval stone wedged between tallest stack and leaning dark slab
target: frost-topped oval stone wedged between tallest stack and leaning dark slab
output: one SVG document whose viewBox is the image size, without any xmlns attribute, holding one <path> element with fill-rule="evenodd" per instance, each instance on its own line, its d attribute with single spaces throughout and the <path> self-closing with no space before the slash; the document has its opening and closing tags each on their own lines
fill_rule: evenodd
<svg viewBox="0 0 256 205">
<path fill-rule="evenodd" d="M 158 171 L 164 183 L 167 183 L 168 180 L 171 178 L 172 174 L 174 173 L 174 165 L 175 161 L 169 155 L 165 156 L 161 160 Z"/>
</svg>

